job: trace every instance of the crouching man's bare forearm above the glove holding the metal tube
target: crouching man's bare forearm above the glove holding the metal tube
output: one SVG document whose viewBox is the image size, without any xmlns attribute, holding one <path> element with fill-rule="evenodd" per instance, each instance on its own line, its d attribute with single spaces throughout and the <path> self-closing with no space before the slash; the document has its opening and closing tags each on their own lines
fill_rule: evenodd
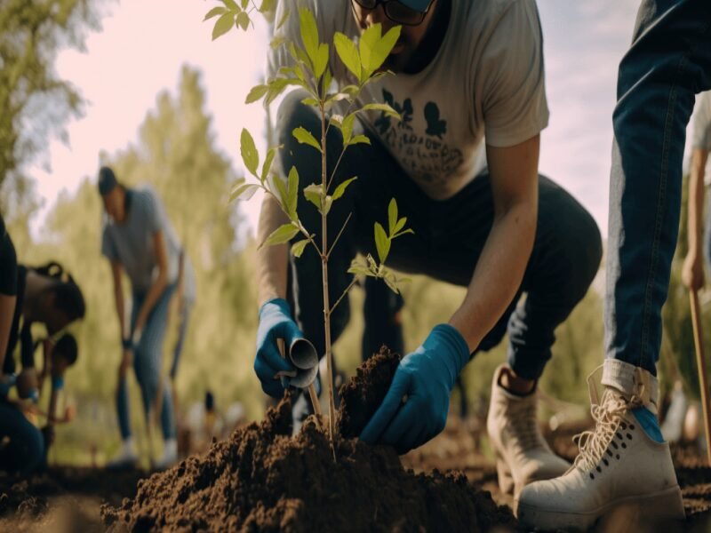
<svg viewBox="0 0 711 533">
<path fill-rule="evenodd" d="M 267 237 L 282 224 L 287 224 L 284 212 L 270 195 L 266 195 L 261 204 L 260 225 L 257 230 L 258 243 L 264 243 Z M 260 306 L 273 298 L 286 298 L 286 272 L 289 266 L 289 246 L 263 246 L 257 252 L 257 285 Z"/>
</svg>

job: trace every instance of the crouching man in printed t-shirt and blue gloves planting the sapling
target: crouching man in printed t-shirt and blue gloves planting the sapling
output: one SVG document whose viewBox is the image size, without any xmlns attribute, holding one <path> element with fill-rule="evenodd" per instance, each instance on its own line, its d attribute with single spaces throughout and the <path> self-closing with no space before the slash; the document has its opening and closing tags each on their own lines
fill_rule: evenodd
<svg viewBox="0 0 711 533">
<path fill-rule="evenodd" d="M 343 147 L 330 128 L 326 145 L 332 187 L 357 176 L 333 203 L 328 235 L 333 242 L 349 213 L 352 219 L 330 255 L 329 288 L 340 297 L 357 252 L 375 255 L 372 225 L 387 219 L 397 200 L 414 234 L 393 241 L 387 266 L 467 287 L 452 302 L 451 318 L 433 324 L 422 344 L 406 354 L 379 410 L 361 438 L 404 453 L 439 434 L 451 389 L 472 354 L 497 346 L 508 334 L 508 362 L 491 386 L 488 430 L 498 459 L 499 484 L 507 492 L 555 477 L 570 466 L 548 448 L 536 423 L 536 384 L 561 324 L 586 294 L 597 273 L 602 243 L 595 220 L 552 180 L 539 176 L 539 134 L 548 122 L 543 40 L 534 0 L 283 0 L 276 18 L 291 16 L 276 38 L 300 42 L 299 6 L 316 14 L 319 39 L 335 32 L 350 38 L 381 25 L 402 31 L 383 69 L 357 105 L 385 102 L 397 121 L 379 111 L 360 115 L 354 135 L 369 145 Z M 268 78 L 292 64 L 286 46 L 270 52 Z M 354 80 L 332 56 L 334 79 Z M 295 166 L 306 186 L 320 175 L 321 157 L 292 136 L 302 127 L 321 137 L 321 121 L 287 93 L 276 116 L 276 161 L 283 175 Z M 320 213 L 300 195 L 305 227 L 320 235 Z M 266 197 L 260 242 L 288 222 Z M 260 323 L 254 369 L 263 390 L 283 394 L 277 372 L 290 371 L 276 338 L 306 336 L 324 354 L 321 263 L 307 247 L 300 259 L 287 245 L 264 247 L 258 262 Z M 287 290 L 287 287 L 290 290 Z M 521 298 L 526 293 L 526 298 Z M 345 302 L 345 300 L 344 300 Z M 331 316 L 335 340 L 348 322 L 348 304 Z M 406 327 L 406 325 L 405 325 Z M 407 402 L 401 405 L 403 397 Z"/>
</svg>

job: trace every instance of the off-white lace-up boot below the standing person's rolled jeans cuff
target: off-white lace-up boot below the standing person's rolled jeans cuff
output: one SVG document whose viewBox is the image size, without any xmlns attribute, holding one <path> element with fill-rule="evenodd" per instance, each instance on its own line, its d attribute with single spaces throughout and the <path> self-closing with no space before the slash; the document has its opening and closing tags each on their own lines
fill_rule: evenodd
<svg viewBox="0 0 711 533">
<path fill-rule="evenodd" d="M 677 530 L 683 502 L 669 445 L 651 439 L 632 412 L 646 407 L 657 414 L 657 379 L 640 367 L 608 359 L 598 402 L 593 374 L 587 382 L 595 430 L 579 435 L 579 456 L 567 473 L 521 491 L 520 524 L 587 530 L 602 518 L 598 530 Z"/>
</svg>

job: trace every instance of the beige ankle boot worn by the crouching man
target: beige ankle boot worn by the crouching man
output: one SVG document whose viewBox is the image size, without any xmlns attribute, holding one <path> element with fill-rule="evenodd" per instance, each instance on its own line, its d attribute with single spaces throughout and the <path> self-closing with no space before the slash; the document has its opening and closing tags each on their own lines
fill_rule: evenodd
<svg viewBox="0 0 711 533">
<path fill-rule="evenodd" d="M 556 456 L 540 434 L 535 392 L 519 396 L 500 385 L 505 369 L 500 365 L 494 372 L 486 429 L 497 457 L 499 488 L 516 497 L 531 481 L 562 475 L 570 463 Z"/>
</svg>

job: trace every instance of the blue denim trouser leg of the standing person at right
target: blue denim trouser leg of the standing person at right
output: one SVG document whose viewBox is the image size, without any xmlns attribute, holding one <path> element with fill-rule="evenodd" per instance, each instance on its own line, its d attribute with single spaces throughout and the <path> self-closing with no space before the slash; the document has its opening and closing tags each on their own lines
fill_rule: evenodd
<svg viewBox="0 0 711 533">
<path fill-rule="evenodd" d="M 711 89 L 711 2 L 643 0 L 619 65 L 610 179 L 607 356 L 656 375 L 694 95 Z"/>
</svg>

